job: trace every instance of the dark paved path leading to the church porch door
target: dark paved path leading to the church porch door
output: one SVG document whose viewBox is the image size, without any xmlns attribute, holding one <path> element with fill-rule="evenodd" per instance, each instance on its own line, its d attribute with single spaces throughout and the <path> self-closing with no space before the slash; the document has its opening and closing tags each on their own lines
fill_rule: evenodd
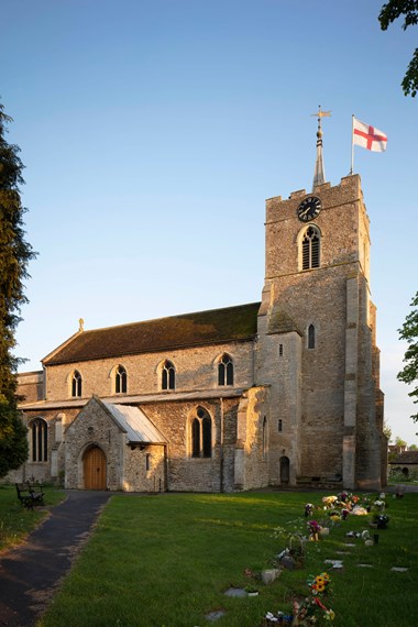
<svg viewBox="0 0 418 627">
<path fill-rule="evenodd" d="M 0 625 L 35 624 L 110 496 L 68 491 L 24 544 L 0 558 Z"/>
</svg>

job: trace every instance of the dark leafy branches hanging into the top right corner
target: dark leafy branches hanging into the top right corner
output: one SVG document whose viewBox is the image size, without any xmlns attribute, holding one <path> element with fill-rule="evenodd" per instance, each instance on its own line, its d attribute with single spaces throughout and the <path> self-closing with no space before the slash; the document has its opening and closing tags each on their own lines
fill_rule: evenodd
<svg viewBox="0 0 418 627">
<path fill-rule="evenodd" d="M 378 15 L 382 31 L 386 31 L 400 15 L 405 15 L 405 22 L 402 26 L 404 31 L 406 31 L 408 26 L 417 24 L 418 0 L 389 0 L 389 2 L 386 2 L 386 4 L 382 7 L 381 14 Z M 418 91 L 418 48 L 414 52 L 408 69 L 402 81 L 402 88 L 405 96 L 410 94 L 413 98 L 415 98 Z"/>
</svg>

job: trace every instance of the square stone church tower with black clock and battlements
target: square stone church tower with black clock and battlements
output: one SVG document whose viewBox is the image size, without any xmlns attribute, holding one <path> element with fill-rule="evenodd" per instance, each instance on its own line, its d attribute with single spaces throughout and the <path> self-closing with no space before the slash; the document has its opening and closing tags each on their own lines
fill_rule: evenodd
<svg viewBox="0 0 418 627">
<path fill-rule="evenodd" d="M 312 193 L 266 201 L 256 383 L 271 385 L 271 482 L 378 488 L 386 450 L 370 221 L 358 175 L 331 187 L 317 170 Z"/>
</svg>

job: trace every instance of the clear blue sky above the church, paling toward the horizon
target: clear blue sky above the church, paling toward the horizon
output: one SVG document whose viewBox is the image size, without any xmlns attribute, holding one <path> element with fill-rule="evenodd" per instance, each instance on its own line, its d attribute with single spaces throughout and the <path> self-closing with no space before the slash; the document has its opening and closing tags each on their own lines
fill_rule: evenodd
<svg viewBox="0 0 418 627">
<path fill-rule="evenodd" d="M 400 88 L 418 28 L 383 0 L 2 0 L 0 96 L 25 164 L 31 263 L 24 370 L 78 329 L 261 298 L 264 200 L 310 190 L 321 105 L 327 179 L 350 170 L 351 116 L 394 436 L 418 443 L 396 381 L 418 289 L 418 98 Z"/>
</svg>

